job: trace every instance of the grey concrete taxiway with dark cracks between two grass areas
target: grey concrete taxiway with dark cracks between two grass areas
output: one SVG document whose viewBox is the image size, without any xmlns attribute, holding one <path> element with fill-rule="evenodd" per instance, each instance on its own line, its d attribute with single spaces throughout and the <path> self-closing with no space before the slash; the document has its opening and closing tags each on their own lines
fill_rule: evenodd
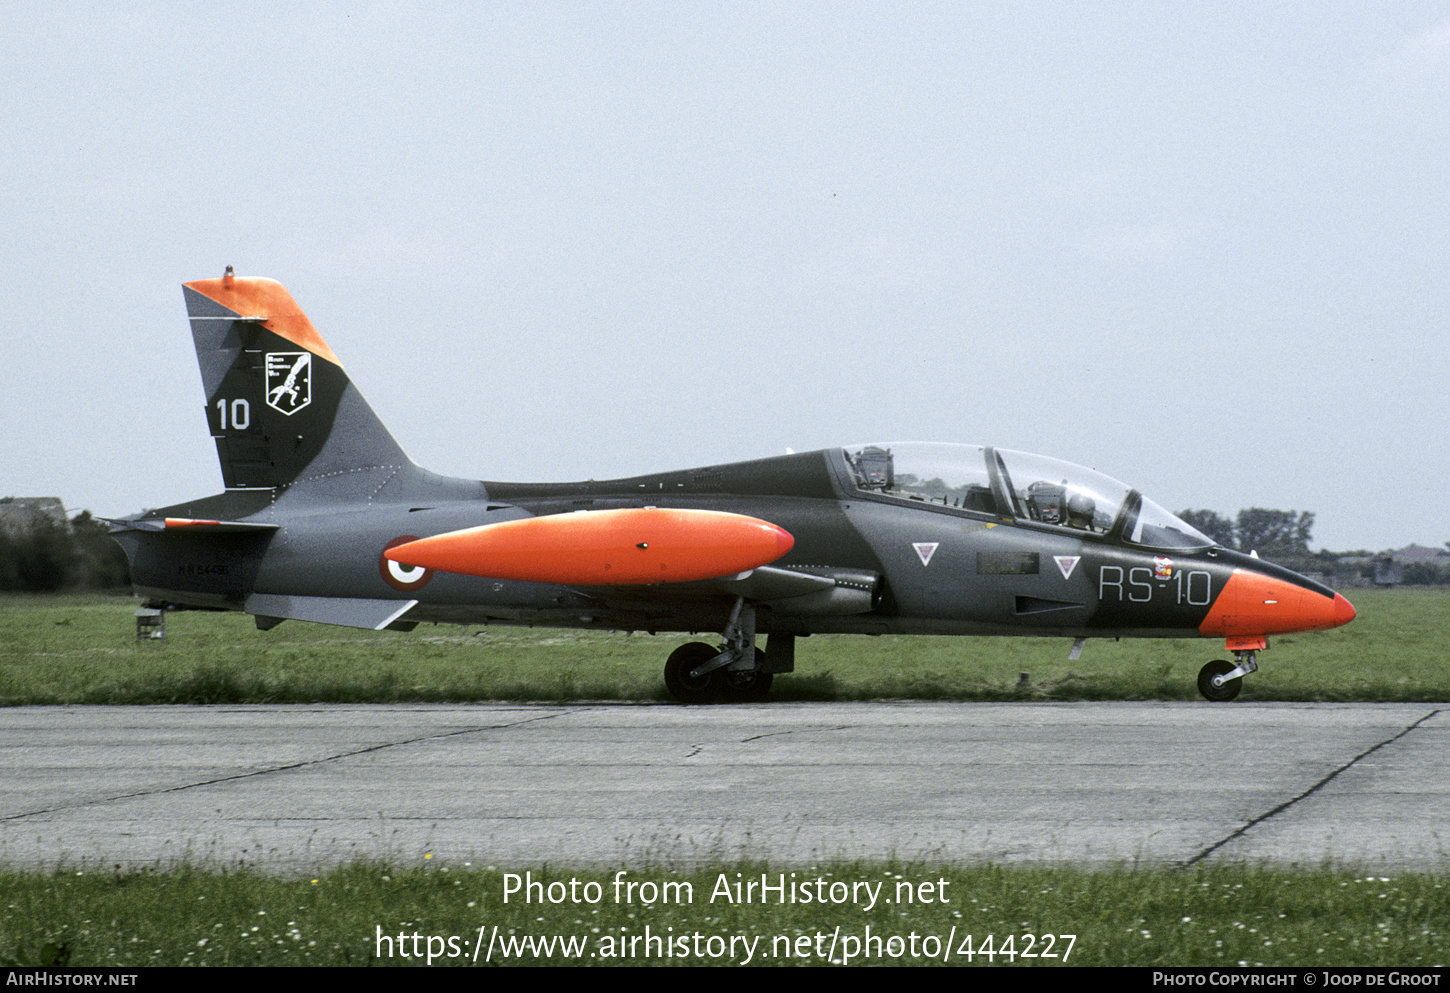
<svg viewBox="0 0 1450 993">
<path fill-rule="evenodd" d="M 1447 705 L 13 707 L 0 865 L 1450 867 Z"/>
</svg>

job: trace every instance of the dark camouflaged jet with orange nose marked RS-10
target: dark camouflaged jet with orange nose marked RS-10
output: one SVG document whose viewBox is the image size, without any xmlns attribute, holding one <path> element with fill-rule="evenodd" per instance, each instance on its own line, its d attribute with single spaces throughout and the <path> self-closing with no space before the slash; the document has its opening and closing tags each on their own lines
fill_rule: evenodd
<svg viewBox="0 0 1450 993">
<path fill-rule="evenodd" d="M 1333 590 L 1214 544 L 1093 470 L 857 444 L 587 483 L 436 475 L 393 441 L 287 290 L 184 287 L 226 490 L 115 522 L 151 606 L 718 632 L 664 665 L 687 703 L 758 700 L 816 632 L 1224 638 L 1231 700 L 1269 636 L 1337 628 Z M 760 645 L 760 636 L 766 644 Z"/>
</svg>

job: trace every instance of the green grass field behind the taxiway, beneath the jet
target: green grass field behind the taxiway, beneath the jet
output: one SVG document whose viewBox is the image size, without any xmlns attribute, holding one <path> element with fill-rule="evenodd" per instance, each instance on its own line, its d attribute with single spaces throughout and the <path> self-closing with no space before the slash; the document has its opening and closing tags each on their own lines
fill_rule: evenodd
<svg viewBox="0 0 1450 993">
<path fill-rule="evenodd" d="M 1346 628 L 1275 638 L 1240 700 L 1450 700 L 1450 590 L 1359 590 Z M 0 599 L 0 705 L 664 700 L 683 635 L 422 626 L 370 632 L 174 613 L 135 639 L 125 597 Z M 706 636 L 709 639 L 709 636 Z M 777 700 L 1195 700 L 1221 641 L 816 635 Z M 1030 684 L 1018 687 L 1018 674 Z"/>
</svg>

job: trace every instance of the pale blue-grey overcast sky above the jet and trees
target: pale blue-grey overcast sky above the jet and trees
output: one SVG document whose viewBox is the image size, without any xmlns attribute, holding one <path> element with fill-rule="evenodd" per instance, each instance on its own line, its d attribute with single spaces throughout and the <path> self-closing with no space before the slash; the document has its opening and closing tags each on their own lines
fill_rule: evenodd
<svg viewBox="0 0 1450 993">
<path fill-rule="evenodd" d="M 412 458 L 867 441 L 1450 539 L 1444 3 L 7 3 L 0 496 L 220 490 L 180 283 Z"/>
</svg>

